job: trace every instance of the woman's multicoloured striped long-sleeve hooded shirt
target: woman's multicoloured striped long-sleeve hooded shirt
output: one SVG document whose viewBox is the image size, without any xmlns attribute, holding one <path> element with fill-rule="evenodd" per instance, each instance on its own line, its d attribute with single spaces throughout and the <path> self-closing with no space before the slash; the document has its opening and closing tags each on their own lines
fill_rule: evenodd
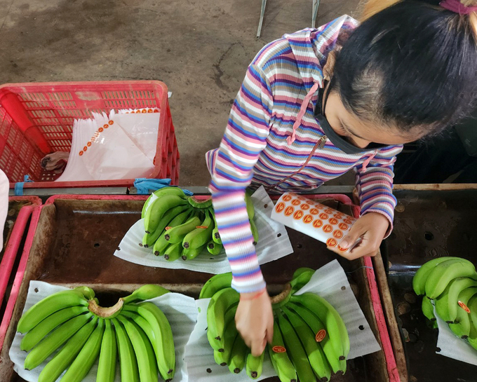
<svg viewBox="0 0 477 382">
<path fill-rule="evenodd" d="M 292 175 L 276 189 L 310 190 L 354 168 L 361 213 L 379 212 L 392 224 L 393 165 L 402 146 L 345 154 L 328 139 L 300 170 L 325 135 L 314 118 L 317 95 L 311 94 L 311 88 L 323 87 L 322 68 L 328 53 L 340 32 L 356 25 L 356 20 L 344 15 L 262 48 L 248 67 L 220 147 L 206 155 L 217 226 L 234 275 L 232 286 L 238 292 L 254 292 L 265 285 L 244 201 L 250 183 L 269 186 Z M 309 99 L 306 111 L 297 118 L 305 97 Z M 289 144 L 287 138 L 297 119 L 295 139 Z"/>
</svg>

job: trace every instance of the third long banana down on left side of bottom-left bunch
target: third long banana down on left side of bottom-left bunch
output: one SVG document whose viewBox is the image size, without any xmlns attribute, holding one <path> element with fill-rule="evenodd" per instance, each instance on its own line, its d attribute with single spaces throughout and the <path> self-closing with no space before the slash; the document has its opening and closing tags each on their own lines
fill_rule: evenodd
<svg viewBox="0 0 477 382">
<path fill-rule="evenodd" d="M 42 339 L 40 343 L 29 352 L 25 359 L 25 369 L 32 370 L 39 366 L 41 362 L 46 360 L 56 349 L 68 341 L 68 339 L 78 332 L 92 317 L 93 315 L 91 313 L 78 315 L 53 330 L 49 336 Z"/>
</svg>

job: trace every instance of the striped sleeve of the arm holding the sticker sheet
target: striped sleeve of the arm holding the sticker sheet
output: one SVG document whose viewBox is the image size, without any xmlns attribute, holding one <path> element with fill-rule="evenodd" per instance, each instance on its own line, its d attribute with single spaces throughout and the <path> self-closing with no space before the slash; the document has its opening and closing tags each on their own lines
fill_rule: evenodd
<svg viewBox="0 0 477 382">
<path fill-rule="evenodd" d="M 389 220 L 389 235 L 393 227 L 396 197 L 393 195 L 394 162 L 403 146 L 389 146 L 377 151 L 367 166 L 356 166 L 356 189 L 361 202 L 361 215 L 383 214 Z"/>
</svg>

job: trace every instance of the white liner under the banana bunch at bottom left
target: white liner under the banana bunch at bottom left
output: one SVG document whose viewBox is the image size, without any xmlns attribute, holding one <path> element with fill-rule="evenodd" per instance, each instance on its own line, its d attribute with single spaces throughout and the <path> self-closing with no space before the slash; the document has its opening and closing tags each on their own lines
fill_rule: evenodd
<svg viewBox="0 0 477 382">
<path fill-rule="evenodd" d="M 31 281 L 28 289 L 27 301 L 25 303 L 24 312 L 32 307 L 35 303 L 44 299 L 46 296 L 53 294 L 55 292 L 60 292 L 61 290 L 68 289 L 60 285 L 51 285 L 48 282 L 41 281 Z M 35 291 L 38 292 L 35 292 Z M 175 357 L 176 357 L 176 371 L 173 381 L 176 382 L 187 382 L 189 378 L 187 377 L 187 367 L 184 362 L 184 350 L 189 336 L 192 332 L 192 329 L 196 325 L 197 319 L 197 308 L 196 303 L 192 297 L 184 296 L 180 293 L 168 293 L 163 296 L 157 297 L 156 299 L 148 300 L 156 306 L 161 308 L 161 311 L 166 315 L 170 322 L 170 327 L 173 330 L 174 336 L 174 346 L 175 346 Z M 50 361 L 55 353 L 48 357 L 48 359 L 43 362 L 39 367 L 36 367 L 33 370 L 25 370 L 23 364 L 27 353 L 20 350 L 20 342 L 22 341 L 25 334 L 16 333 L 15 339 L 13 339 L 12 346 L 8 355 L 14 363 L 13 369 L 16 373 L 21 376 L 25 381 L 28 382 L 37 382 L 38 376 L 45 367 L 46 363 Z M 98 371 L 98 360 L 96 360 L 93 367 L 90 369 L 88 375 L 83 379 L 83 382 L 96 382 L 96 373 Z M 61 378 L 61 376 L 60 376 Z M 58 378 L 58 379 L 60 379 Z M 160 377 L 159 377 L 160 379 Z M 116 364 L 116 378 L 115 382 L 121 382 L 121 372 L 119 370 L 119 362 Z"/>
</svg>

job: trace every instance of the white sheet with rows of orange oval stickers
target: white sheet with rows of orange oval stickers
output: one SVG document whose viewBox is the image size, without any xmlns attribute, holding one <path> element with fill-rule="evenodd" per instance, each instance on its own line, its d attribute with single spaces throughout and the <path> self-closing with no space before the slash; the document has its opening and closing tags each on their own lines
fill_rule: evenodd
<svg viewBox="0 0 477 382">
<path fill-rule="evenodd" d="M 325 243 L 335 252 L 349 252 L 340 247 L 356 219 L 343 212 L 295 193 L 284 193 L 276 202 L 271 219 Z"/>
</svg>

